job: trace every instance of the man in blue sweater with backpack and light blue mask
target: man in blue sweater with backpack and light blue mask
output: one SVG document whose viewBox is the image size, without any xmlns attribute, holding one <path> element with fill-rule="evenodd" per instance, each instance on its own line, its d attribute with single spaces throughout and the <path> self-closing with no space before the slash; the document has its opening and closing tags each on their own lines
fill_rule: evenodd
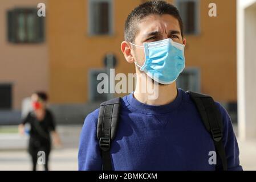
<svg viewBox="0 0 256 182">
<path fill-rule="evenodd" d="M 79 170 L 242 170 L 224 107 L 206 96 L 201 103 L 201 95 L 176 86 L 185 68 L 186 45 L 176 7 L 165 1 L 136 7 L 125 22 L 124 38 L 125 59 L 135 64 L 137 76 L 149 79 L 137 79 L 135 92 L 87 115 L 80 135 Z M 141 90 L 152 81 L 159 84 L 155 100 Z M 212 151 L 218 154 L 213 163 Z"/>
</svg>

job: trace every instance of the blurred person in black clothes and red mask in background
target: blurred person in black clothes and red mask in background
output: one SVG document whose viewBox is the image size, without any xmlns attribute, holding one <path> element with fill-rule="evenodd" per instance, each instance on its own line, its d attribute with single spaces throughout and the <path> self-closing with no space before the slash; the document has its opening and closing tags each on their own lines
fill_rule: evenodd
<svg viewBox="0 0 256 182">
<path fill-rule="evenodd" d="M 29 154 L 32 158 L 32 169 L 36 170 L 38 152 L 44 151 L 44 168 L 48 171 L 48 159 L 51 151 L 51 134 L 55 145 L 60 145 L 60 138 L 55 130 L 55 121 L 50 110 L 46 108 L 47 94 L 36 92 L 31 96 L 33 110 L 19 125 L 19 133 L 25 133 L 25 124 L 30 124 Z"/>
</svg>

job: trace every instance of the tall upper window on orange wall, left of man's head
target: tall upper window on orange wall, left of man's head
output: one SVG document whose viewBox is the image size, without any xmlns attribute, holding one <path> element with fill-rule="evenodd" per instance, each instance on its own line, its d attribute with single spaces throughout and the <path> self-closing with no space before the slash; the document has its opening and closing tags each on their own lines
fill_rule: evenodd
<svg viewBox="0 0 256 182">
<path fill-rule="evenodd" d="M 91 35 L 105 35 L 112 32 L 112 1 L 89 1 L 89 27 Z"/>
</svg>

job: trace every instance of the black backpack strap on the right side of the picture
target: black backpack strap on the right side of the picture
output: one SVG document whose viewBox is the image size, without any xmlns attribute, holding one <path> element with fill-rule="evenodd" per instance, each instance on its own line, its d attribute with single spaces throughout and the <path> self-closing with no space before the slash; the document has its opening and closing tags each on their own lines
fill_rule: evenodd
<svg viewBox="0 0 256 182">
<path fill-rule="evenodd" d="M 222 118 L 212 97 L 192 91 L 187 91 L 190 98 L 196 104 L 206 129 L 212 135 L 217 155 L 221 159 L 222 166 L 216 169 L 227 170 L 227 159 L 224 144 L 222 143 Z"/>
</svg>

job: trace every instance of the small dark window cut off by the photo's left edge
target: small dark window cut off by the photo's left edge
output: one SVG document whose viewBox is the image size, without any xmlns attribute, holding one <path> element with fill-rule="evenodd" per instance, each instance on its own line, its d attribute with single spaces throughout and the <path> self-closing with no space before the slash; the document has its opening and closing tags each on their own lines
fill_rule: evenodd
<svg viewBox="0 0 256 182">
<path fill-rule="evenodd" d="M 0 84 L 0 109 L 11 109 L 11 84 Z"/>
</svg>

